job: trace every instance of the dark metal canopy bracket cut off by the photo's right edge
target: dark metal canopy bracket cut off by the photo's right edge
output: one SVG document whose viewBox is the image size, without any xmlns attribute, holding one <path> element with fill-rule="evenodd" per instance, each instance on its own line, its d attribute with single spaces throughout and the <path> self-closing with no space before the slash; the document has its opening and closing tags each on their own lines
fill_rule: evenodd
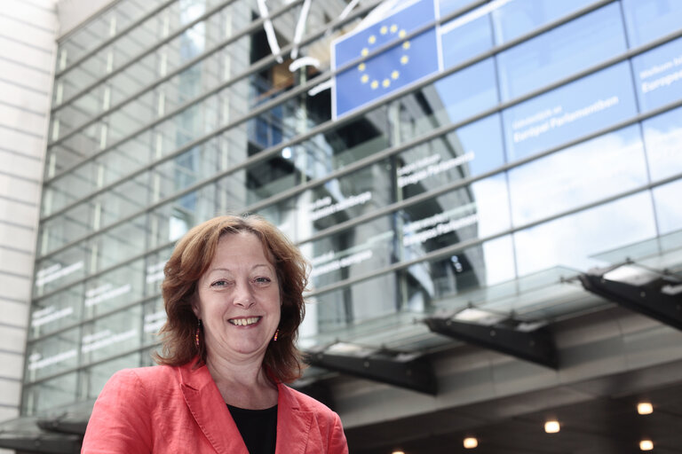
<svg viewBox="0 0 682 454">
<path fill-rule="evenodd" d="M 592 294 L 682 331 L 682 296 L 663 293 L 662 279 L 636 286 L 596 274 L 581 274 L 580 281 Z"/>
</svg>

